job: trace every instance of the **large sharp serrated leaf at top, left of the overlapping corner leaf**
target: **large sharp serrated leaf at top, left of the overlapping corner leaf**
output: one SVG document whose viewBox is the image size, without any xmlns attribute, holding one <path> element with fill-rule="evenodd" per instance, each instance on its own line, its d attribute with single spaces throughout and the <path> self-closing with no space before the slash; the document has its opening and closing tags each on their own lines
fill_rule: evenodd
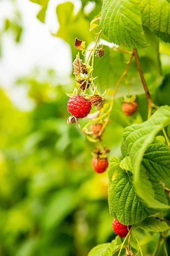
<svg viewBox="0 0 170 256">
<path fill-rule="evenodd" d="M 108 39 L 125 47 L 147 47 L 141 12 L 135 1 L 104 0 L 100 26 Z"/>
</svg>

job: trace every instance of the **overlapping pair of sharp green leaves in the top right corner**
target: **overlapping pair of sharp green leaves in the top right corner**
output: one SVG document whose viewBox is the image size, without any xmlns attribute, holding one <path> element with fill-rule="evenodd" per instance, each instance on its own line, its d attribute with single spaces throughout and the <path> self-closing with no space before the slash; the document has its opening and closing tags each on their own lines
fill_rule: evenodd
<svg viewBox="0 0 170 256">
<path fill-rule="evenodd" d="M 104 0 L 100 26 L 111 42 L 144 48 L 147 44 L 142 25 L 154 30 L 163 41 L 169 41 L 169 11 L 167 0 Z"/>
</svg>

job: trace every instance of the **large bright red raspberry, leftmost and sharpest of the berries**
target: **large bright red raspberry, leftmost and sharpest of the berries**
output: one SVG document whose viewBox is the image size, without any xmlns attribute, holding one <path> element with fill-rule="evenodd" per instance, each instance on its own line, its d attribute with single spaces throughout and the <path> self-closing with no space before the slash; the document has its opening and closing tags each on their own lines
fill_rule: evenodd
<svg viewBox="0 0 170 256">
<path fill-rule="evenodd" d="M 70 112 L 72 116 L 83 118 L 90 113 L 91 102 L 89 100 L 85 100 L 85 98 L 79 96 L 79 94 L 76 94 L 68 100 L 67 108 L 68 112 Z"/>
</svg>

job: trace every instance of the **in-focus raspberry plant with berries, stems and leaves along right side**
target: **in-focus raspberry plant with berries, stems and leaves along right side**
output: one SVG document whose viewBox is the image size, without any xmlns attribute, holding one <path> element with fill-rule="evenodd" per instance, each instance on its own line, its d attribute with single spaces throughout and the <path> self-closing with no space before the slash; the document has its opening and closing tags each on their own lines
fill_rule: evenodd
<svg viewBox="0 0 170 256">
<path fill-rule="evenodd" d="M 160 9 L 156 3 L 160 5 Z M 133 58 L 136 61 L 148 103 L 147 120 L 125 128 L 121 147 L 123 160 L 113 156 L 109 161 L 108 203 L 110 214 L 114 218 L 113 230 L 125 239 L 122 241 L 119 237 L 116 237 L 110 244 L 96 246 L 88 254 L 89 256 L 110 256 L 117 252 L 119 252 L 118 256 L 124 255 L 124 253 L 134 255 L 132 250 L 136 255 L 139 253 L 142 256 L 142 249 L 135 234 L 136 228 L 161 232 L 158 247 L 153 252 L 154 256 L 157 255 L 159 246 L 162 243 L 165 245 L 164 231 L 168 230 L 169 227 L 162 219 L 156 218 L 156 214 L 169 209 L 164 186 L 160 181 L 170 179 L 170 142 L 164 129 L 170 124 L 170 107 L 167 105 L 158 107 L 153 103 L 137 50 L 137 48 L 149 47 L 146 43 L 143 26 L 149 27 L 154 34 L 165 41 L 165 38 L 168 38 L 167 34 L 170 31 L 168 30 L 169 20 L 167 15 L 170 4 L 166 0 L 161 1 L 161 3 L 156 1 L 156 3 L 153 3 L 152 0 L 104 0 L 101 16 L 91 22 L 90 31 L 96 33 L 96 29 L 101 29 L 96 33 L 94 47 L 87 49 L 85 41 L 77 38 L 74 41 L 74 47 L 79 49 L 73 62 L 77 87 L 72 94 L 67 94 L 71 97 L 68 104 L 71 99 L 78 97 L 84 99 L 84 105 L 91 102 L 91 105 L 96 108 L 94 108 L 93 113 L 88 115 L 89 121 L 83 128 L 81 128 L 79 120 L 75 121 L 79 130 L 87 136 L 88 140 L 96 143 L 96 148 L 97 146 L 100 147 L 99 154 L 92 159 L 92 165 L 96 172 L 104 172 L 108 166 L 106 164 L 107 158 L 103 157 L 103 147 L 100 143 L 105 127 L 110 122 L 116 93 L 124 77 L 128 94 L 124 96 L 122 111 L 126 116 L 132 116 L 137 111 L 136 96 L 130 95 L 128 83 L 128 69 Z M 157 13 L 158 10 L 159 13 Z M 165 16 L 161 18 L 163 13 Z M 157 17 L 158 15 L 160 18 Z M 102 95 L 99 93 L 96 85 L 97 77 L 94 77 L 95 58 L 101 58 L 100 65 L 102 66 L 102 56 L 105 54 L 105 47 L 98 45 L 102 32 L 114 44 L 132 47 L 130 50 L 126 50 L 114 45 L 116 50 L 122 51 L 130 57 L 124 72 L 122 75 L 120 74 L 111 98 L 109 97 L 110 93 L 106 96 L 103 91 Z M 83 62 L 82 58 L 85 52 L 89 52 L 89 54 Z M 100 73 L 98 76 L 100 76 Z M 82 105 L 79 104 L 78 112 L 83 111 L 84 105 L 83 103 Z M 75 102 L 73 108 L 76 108 L 76 106 L 77 102 Z M 71 112 L 69 107 L 68 111 Z M 78 113 L 70 118 L 79 119 L 80 116 Z M 87 114 L 85 113 L 84 116 L 87 116 Z M 156 139 L 160 131 L 164 134 L 166 144 Z M 94 152 L 97 150 L 96 148 Z M 115 176 L 114 172 L 118 166 L 122 169 L 122 172 Z M 162 214 L 160 215 L 162 216 Z M 166 246 L 164 252 L 167 255 Z"/>
</svg>

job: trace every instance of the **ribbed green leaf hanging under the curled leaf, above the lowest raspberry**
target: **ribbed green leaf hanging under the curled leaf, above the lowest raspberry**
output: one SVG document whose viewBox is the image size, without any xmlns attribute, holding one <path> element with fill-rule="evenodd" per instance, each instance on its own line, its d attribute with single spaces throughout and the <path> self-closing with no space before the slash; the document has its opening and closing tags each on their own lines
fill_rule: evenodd
<svg viewBox="0 0 170 256">
<path fill-rule="evenodd" d="M 156 195 L 159 194 L 157 200 L 166 204 L 164 189 L 159 185 L 159 182 L 153 183 Z M 160 211 L 159 208 L 148 207 L 141 196 L 138 196 L 133 183 L 133 175 L 130 172 L 121 172 L 116 175 L 110 186 L 108 201 L 110 214 L 125 225 L 133 225 Z"/>
</svg>

